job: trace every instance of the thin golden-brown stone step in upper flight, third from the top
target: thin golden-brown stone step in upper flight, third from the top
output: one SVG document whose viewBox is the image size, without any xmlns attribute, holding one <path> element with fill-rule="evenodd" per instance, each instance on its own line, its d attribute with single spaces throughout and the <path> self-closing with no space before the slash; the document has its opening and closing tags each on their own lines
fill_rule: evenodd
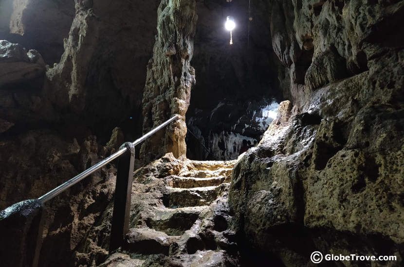
<svg viewBox="0 0 404 267">
<path fill-rule="evenodd" d="M 181 177 L 176 175 L 170 175 L 167 177 L 168 185 L 171 187 L 179 188 L 195 188 L 204 186 L 216 186 L 223 184 L 226 181 L 225 176 L 209 177 L 209 178 L 196 178 L 196 177 Z"/>
</svg>

